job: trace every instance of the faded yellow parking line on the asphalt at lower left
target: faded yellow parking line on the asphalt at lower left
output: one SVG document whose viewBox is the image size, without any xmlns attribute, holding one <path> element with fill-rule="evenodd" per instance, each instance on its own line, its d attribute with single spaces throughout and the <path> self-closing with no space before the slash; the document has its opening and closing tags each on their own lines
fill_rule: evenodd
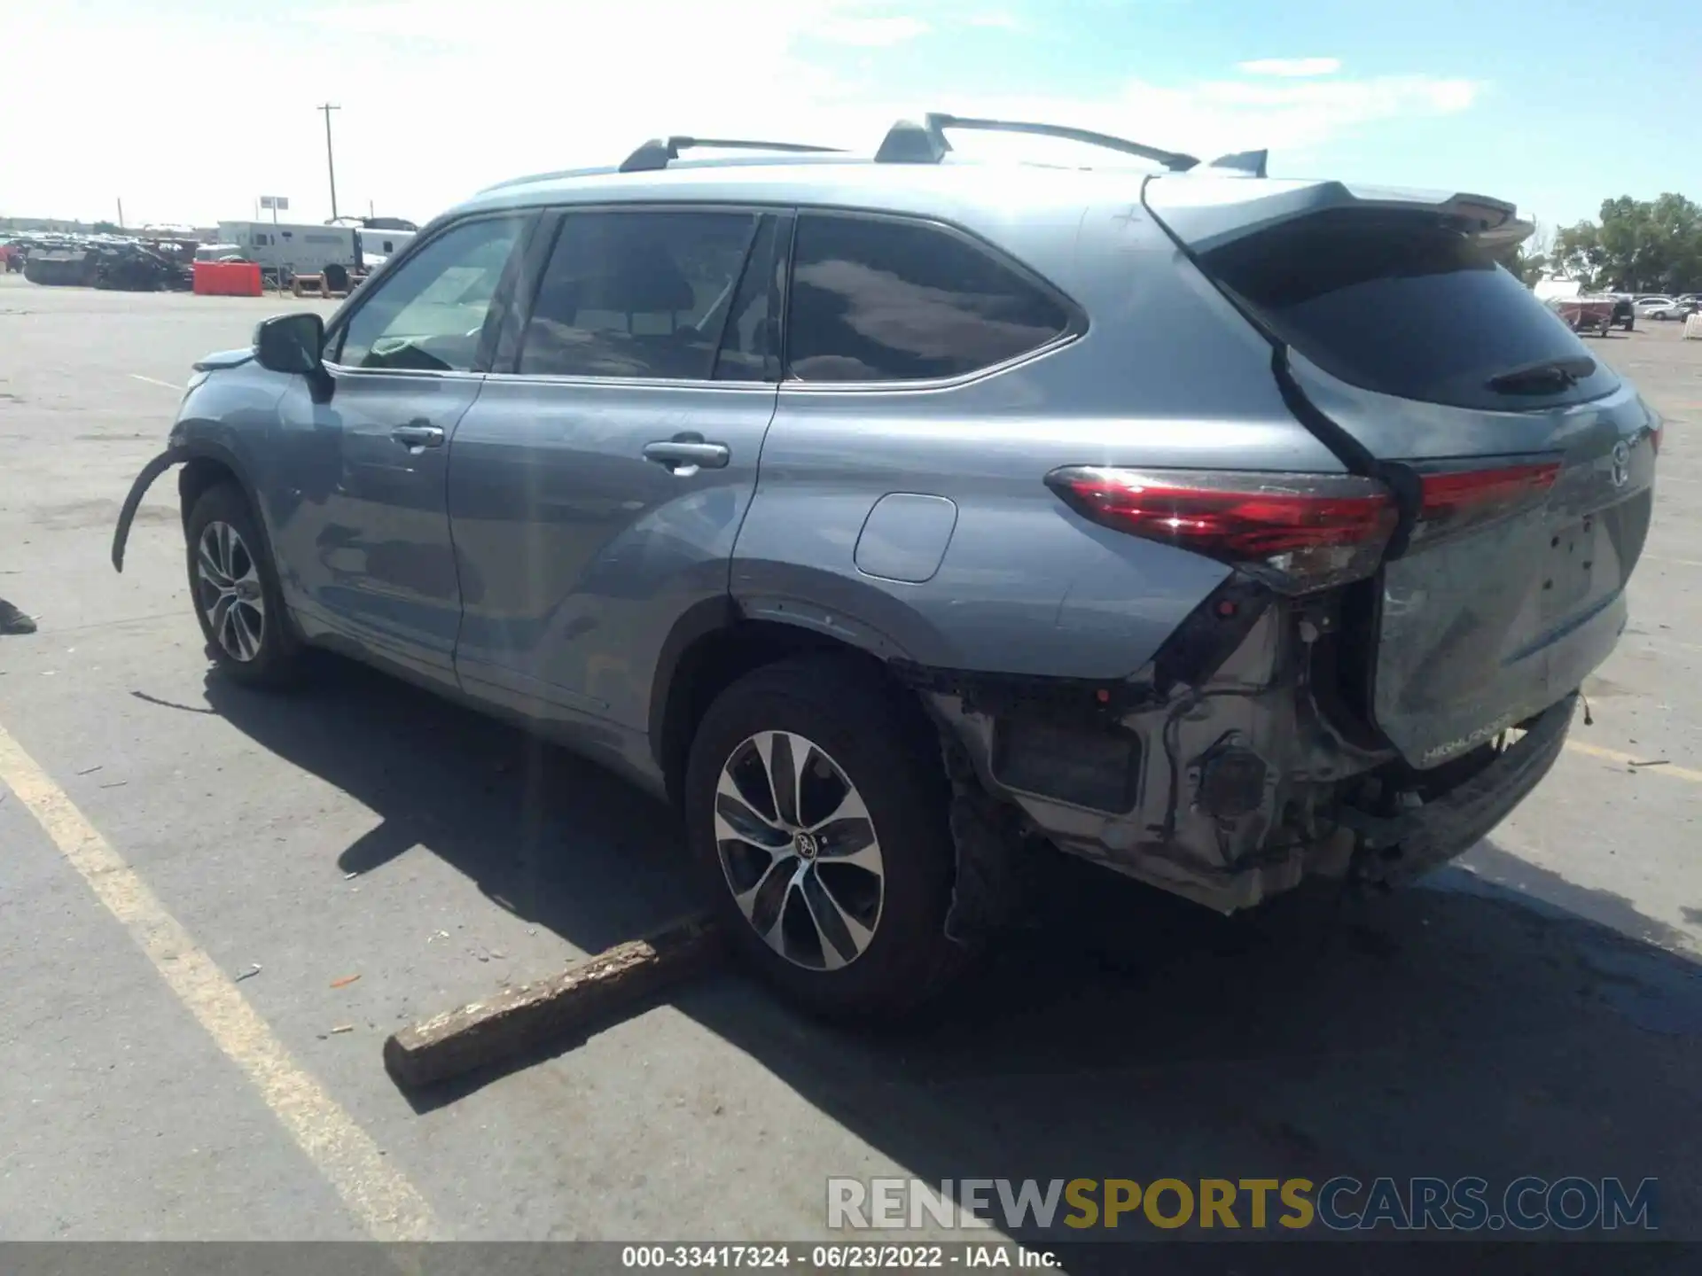
<svg viewBox="0 0 1702 1276">
<path fill-rule="evenodd" d="M 172 994 L 260 1092 L 272 1116 L 308 1155 L 374 1240 L 432 1240 L 432 1208 L 371 1136 L 296 1063 L 271 1026 L 160 898 L 89 823 L 65 791 L 0 725 L 0 781 L 29 808 Z M 374 1055 L 376 1058 L 376 1055 Z"/>
</svg>

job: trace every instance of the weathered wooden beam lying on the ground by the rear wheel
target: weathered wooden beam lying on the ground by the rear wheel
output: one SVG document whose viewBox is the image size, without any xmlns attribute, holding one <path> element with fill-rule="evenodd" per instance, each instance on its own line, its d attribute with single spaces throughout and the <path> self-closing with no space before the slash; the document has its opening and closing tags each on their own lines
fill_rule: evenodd
<svg viewBox="0 0 1702 1276">
<path fill-rule="evenodd" d="M 722 937 L 706 915 L 604 949 L 538 983 L 422 1019 L 385 1041 L 403 1085 L 429 1085 L 548 1043 L 626 1002 L 708 970 Z"/>
</svg>

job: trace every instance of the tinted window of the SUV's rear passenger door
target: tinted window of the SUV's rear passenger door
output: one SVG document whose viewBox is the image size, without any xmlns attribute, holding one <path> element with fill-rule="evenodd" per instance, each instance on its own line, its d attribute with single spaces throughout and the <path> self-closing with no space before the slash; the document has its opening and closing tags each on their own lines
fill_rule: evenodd
<svg viewBox="0 0 1702 1276">
<path fill-rule="evenodd" d="M 710 379 L 752 213 L 568 213 L 519 371 Z"/>
</svg>

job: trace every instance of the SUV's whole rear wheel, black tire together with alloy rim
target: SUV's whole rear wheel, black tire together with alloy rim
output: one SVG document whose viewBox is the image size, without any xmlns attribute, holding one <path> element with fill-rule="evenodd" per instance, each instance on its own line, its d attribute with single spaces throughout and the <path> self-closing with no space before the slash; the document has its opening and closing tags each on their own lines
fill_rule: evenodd
<svg viewBox="0 0 1702 1276">
<path fill-rule="evenodd" d="M 768 762 L 788 774 L 788 759 L 802 781 L 776 801 Z M 722 927 L 762 978 L 815 1014 L 892 1021 L 967 960 L 945 937 L 950 793 L 919 706 L 853 658 L 798 657 L 710 706 L 686 767 L 686 832 Z"/>
</svg>

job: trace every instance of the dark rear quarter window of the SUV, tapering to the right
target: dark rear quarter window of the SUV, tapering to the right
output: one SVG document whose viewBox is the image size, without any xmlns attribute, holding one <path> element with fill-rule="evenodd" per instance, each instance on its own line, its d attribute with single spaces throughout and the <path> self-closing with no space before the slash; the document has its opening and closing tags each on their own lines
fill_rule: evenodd
<svg viewBox="0 0 1702 1276">
<path fill-rule="evenodd" d="M 1038 349 L 1069 315 L 945 230 L 817 214 L 798 219 L 788 323 L 800 381 L 919 381 Z"/>
</svg>

